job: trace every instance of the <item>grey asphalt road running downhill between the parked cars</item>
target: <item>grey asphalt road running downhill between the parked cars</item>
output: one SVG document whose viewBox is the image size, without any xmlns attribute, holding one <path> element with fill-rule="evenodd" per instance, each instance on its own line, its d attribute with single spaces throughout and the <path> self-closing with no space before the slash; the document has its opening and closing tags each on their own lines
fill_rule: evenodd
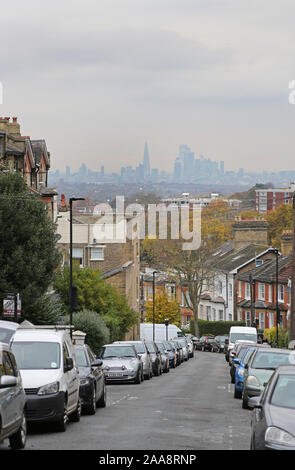
<svg viewBox="0 0 295 470">
<path fill-rule="evenodd" d="M 168 374 L 140 385 L 108 385 L 107 392 L 106 408 L 69 423 L 65 433 L 44 425 L 31 429 L 26 448 L 249 449 L 251 412 L 233 398 L 223 354 L 197 351 Z"/>
</svg>

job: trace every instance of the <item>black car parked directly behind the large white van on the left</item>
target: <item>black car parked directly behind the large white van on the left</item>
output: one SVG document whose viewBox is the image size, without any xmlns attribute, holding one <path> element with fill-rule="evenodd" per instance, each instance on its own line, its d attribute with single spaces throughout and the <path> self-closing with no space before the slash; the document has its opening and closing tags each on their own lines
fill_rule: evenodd
<svg viewBox="0 0 295 470">
<path fill-rule="evenodd" d="M 95 414 L 96 408 L 106 406 L 106 382 L 103 362 L 97 359 L 88 345 L 75 346 L 80 378 L 80 399 L 82 410 Z"/>
</svg>

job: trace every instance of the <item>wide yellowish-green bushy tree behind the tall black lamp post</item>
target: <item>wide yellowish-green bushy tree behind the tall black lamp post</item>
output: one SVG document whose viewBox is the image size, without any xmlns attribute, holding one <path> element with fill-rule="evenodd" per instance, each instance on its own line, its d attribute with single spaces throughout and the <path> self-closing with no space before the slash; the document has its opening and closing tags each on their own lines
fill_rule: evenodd
<svg viewBox="0 0 295 470">
<path fill-rule="evenodd" d="M 63 268 L 56 276 L 54 288 L 69 311 L 70 270 Z M 125 297 L 100 277 L 96 269 L 73 266 L 73 285 L 78 289 L 78 308 L 97 312 L 110 329 L 110 340 L 123 339 L 138 321 Z"/>
</svg>

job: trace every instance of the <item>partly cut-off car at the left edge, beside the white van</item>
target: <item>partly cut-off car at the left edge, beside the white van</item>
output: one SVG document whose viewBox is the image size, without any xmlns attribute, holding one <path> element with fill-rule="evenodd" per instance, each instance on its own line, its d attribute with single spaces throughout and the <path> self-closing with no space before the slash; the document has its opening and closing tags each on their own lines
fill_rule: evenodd
<svg viewBox="0 0 295 470">
<path fill-rule="evenodd" d="M 14 354 L 0 343 L 0 442 L 9 439 L 11 449 L 26 445 L 26 395 Z"/>
</svg>

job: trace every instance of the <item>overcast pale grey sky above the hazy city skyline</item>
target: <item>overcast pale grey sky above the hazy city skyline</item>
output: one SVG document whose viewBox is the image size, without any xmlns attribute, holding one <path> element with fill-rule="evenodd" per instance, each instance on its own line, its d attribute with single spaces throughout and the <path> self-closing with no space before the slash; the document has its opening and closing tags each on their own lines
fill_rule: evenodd
<svg viewBox="0 0 295 470">
<path fill-rule="evenodd" d="M 295 170 L 294 0 L 14 0 L 0 16 L 0 115 L 52 168 Z"/>
</svg>

